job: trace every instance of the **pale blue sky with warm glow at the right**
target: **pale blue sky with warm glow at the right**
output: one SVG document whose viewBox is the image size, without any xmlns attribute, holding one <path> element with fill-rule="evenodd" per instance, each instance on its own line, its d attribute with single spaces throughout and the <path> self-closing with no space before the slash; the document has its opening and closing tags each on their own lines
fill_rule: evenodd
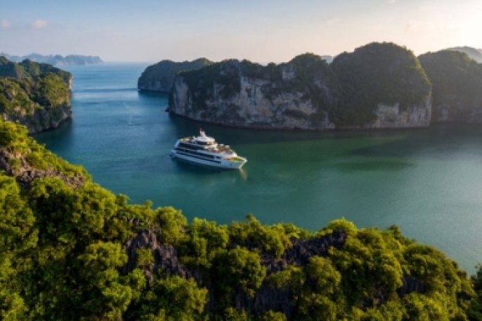
<svg viewBox="0 0 482 321">
<path fill-rule="evenodd" d="M 0 0 L 0 52 L 287 62 L 394 42 L 482 48 L 482 0 Z"/>
</svg>

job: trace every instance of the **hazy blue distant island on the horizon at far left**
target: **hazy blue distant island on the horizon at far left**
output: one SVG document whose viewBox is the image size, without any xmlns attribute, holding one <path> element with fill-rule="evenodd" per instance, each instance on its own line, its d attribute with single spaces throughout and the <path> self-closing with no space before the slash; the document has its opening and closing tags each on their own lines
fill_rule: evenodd
<svg viewBox="0 0 482 321">
<path fill-rule="evenodd" d="M 104 62 L 97 56 L 84 55 L 39 55 L 38 53 L 31 53 L 26 56 L 8 55 L 7 53 L 0 53 L 0 56 L 6 57 L 12 62 L 23 62 L 25 59 L 30 59 L 33 62 L 42 62 L 44 64 L 52 64 L 54 66 L 69 66 L 82 64 L 103 64 Z"/>
</svg>

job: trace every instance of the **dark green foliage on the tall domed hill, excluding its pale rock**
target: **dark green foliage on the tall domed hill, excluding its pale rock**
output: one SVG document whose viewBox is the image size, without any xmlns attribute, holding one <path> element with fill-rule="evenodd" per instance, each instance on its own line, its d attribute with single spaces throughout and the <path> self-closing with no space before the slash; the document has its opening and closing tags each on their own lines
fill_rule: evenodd
<svg viewBox="0 0 482 321">
<path fill-rule="evenodd" d="M 431 95 L 431 84 L 420 62 L 407 48 L 372 43 L 341 53 L 332 64 L 343 87 L 336 122 L 363 125 L 375 119 L 377 105 L 400 103 L 400 110 L 419 105 Z"/>
</svg>

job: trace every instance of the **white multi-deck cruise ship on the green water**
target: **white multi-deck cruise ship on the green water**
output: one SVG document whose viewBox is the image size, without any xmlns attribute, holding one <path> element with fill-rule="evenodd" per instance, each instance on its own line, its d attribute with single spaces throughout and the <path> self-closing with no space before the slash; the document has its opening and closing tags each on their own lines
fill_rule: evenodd
<svg viewBox="0 0 482 321">
<path fill-rule="evenodd" d="M 247 159 L 238 156 L 229 145 L 218 144 L 214 138 L 199 130 L 199 136 L 177 140 L 170 152 L 172 158 L 179 158 L 190 163 L 224 169 L 240 169 Z"/>
</svg>

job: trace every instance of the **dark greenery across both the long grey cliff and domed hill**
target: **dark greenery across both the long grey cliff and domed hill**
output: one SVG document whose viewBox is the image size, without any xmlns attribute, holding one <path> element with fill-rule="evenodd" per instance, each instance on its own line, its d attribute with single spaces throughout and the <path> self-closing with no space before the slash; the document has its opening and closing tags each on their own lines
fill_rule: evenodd
<svg viewBox="0 0 482 321">
<path fill-rule="evenodd" d="M 242 124 L 242 120 L 235 119 L 235 110 L 242 106 L 233 103 L 226 107 L 226 116 L 219 116 L 217 104 L 213 103 L 240 95 L 242 77 L 256 82 L 253 87 L 284 116 L 306 120 L 314 129 L 327 125 L 326 116 L 337 127 L 364 126 L 377 118 L 379 104 L 398 103 L 400 111 L 406 111 L 424 106 L 431 95 L 431 84 L 417 57 L 407 48 L 389 43 L 368 44 L 354 53 L 342 53 L 331 64 L 318 55 L 305 53 L 285 64 L 267 66 L 248 60 L 225 60 L 179 76 L 188 86 L 192 108 L 186 116 L 202 111 L 202 119 L 222 123 L 234 120 Z M 249 85 L 245 89 L 251 98 Z M 171 93 L 170 107 L 175 110 L 172 99 Z M 300 102 L 312 104 L 316 112 L 280 107 L 298 106 Z"/>
</svg>

